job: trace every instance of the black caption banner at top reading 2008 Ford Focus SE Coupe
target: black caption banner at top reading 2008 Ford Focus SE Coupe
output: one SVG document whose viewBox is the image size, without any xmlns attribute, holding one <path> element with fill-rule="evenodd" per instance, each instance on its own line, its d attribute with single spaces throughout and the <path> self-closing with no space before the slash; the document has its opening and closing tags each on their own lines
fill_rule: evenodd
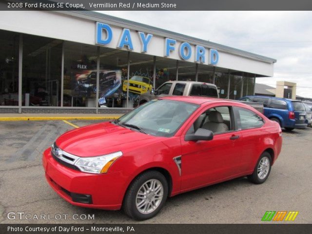
<svg viewBox="0 0 312 234">
<path fill-rule="evenodd" d="M 0 10 L 309 11 L 312 10 L 312 0 L 0 0 Z"/>
</svg>

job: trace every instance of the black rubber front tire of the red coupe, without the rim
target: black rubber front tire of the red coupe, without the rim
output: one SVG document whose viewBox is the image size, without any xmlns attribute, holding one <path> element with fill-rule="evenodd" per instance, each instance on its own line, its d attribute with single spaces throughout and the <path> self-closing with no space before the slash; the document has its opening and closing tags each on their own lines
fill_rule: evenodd
<svg viewBox="0 0 312 234">
<path fill-rule="evenodd" d="M 150 180 L 157 180 L 158 182 L 161 183 L 162 188 L 163 188 L 163 195 L 161 200 L 159 200 L 159 204 L 157 205 L 157 208 L 148 213 L 148 214 L 143 214 L 141 213 L 136 205 L 137 202 L 137 193 L 145 184 L 146 182 Z M 165 176 L 163 176 L 160 172 L 157 171 L 147 171 L 144 172 L 140 175 L 138 175 L 130 184 L 127 193 L 124 197 L 123 200 L 123 210 L 126 213 L 126 215 L 136 219 L 136 220 L 145 220 L 154 217 L 164 206 L 168 196 L 168 182 Z M 148 198 L 146 198 L 148 199 Z"/>
</svg>

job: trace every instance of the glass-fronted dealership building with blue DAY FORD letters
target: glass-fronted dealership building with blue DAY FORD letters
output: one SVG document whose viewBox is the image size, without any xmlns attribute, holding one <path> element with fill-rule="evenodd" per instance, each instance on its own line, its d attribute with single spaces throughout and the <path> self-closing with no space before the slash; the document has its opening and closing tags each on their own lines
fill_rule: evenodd
<svg viewBox="0 0 312 234">
<path fill-rule="evenodd" d="M 0 113 L 124 113 L 169 80 L 238 99 L 276 62 L 93 11 L 2 11 L 0 45 Z"/>
</svg>

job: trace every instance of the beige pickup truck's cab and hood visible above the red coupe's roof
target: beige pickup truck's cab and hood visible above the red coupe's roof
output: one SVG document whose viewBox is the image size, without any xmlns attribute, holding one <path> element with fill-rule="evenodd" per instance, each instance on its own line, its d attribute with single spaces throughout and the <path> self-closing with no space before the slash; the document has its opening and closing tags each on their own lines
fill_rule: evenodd
<svg viewBox="0 0 312 234">
<path fill-rule="evenodd" d="M 219 98 L 217 87 L 214 84 L 197 81 L 168 81 L 152 90 L 151 94 L 141 95 L 139 104 L 143 104 L 155 98 L 168 96 L 200 96 Z"/>
</svg>

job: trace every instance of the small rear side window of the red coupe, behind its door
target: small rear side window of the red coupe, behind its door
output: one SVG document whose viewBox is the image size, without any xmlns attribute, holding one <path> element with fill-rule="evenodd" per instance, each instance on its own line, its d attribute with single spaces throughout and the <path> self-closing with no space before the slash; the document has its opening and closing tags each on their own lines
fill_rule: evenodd
<svg viewBox="0 0 312 234">
<path fill-rule="evenodd" d="M 242 130 L 260 128 L 264 124 L 263 119 L 253 111 L 241 107 L 237 107 L 237 109 L 240 118 L 238 126 L 240 125 Z"/>
</svg>

